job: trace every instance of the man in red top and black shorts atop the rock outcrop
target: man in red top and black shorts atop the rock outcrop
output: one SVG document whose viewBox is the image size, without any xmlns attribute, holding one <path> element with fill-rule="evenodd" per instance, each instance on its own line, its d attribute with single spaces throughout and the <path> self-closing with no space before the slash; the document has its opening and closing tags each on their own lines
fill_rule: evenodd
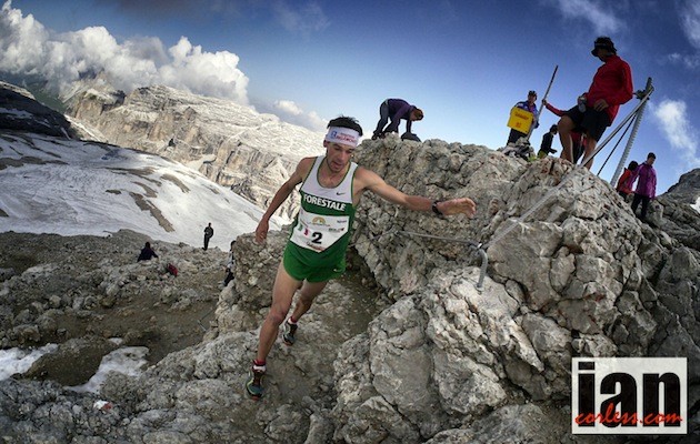
<svg viewBox="0 0 700 444">
<path fill-rule="evenodd" d="M 599 58 L 603 65 L 598 68 L 588 92 L 579 98 L 579 104 L 559 120 L 559 138 L 563 147 L 561 158 L 570 162 L 573 162 L 571 132 L 587 135 L 584 158 L 588 158 L 596 151 L 606 128 L 618 115 L 620 105 L 627 103 L 634 92 L 630 65 L 618 57 L 609 37 L 596 39 L 591 54 Z M 591 167 L 593 159 L 586 162 L 586 168 L 590 170 Z"/>
</svg>

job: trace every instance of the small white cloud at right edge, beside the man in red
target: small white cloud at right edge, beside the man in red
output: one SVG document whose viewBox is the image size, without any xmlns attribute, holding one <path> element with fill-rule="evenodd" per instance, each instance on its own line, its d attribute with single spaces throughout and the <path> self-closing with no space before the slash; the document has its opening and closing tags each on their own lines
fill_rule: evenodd
<svg viewBox="0 0 700 444">
<path fill-rule="evenodd" d="M 691 168 L 700 167 L 698 150 L 700 134 L 688 120 L 686 102 L 664 99 L 652 109 L 652 115 L 671 147 L 680 151 L 681 158 Z"/>
</svg>

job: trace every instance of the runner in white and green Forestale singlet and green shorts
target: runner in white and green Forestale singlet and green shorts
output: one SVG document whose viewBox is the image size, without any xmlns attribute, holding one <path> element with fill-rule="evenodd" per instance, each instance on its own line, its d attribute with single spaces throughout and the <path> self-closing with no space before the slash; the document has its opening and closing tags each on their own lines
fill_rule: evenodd
<svg viewBox="0 0 700 444">
<path fill-rule="evenodd" d="M 253 398 L 262 396 L 266 360 L 274 345 L 279 326 L 284 323 L 282 340 L 292 345 L 297 323 L 309 311 L 314 297 L 329 280 L 343 274 L 354 211 L 364 192 L 371 191 L 409 210 L 432 211 L 437 215 L 467 214 L 471 218 L 477 210 L 469 198 L 433 201 L 404 194 L 387 184 L 377 173 L 351 162 L 361 135 L 362 128 L 357 120 L 348 117 L 331 120 L 323 141 L 326 154 L 299 162 L 296 171 L 272 198 L 256 229 L 256 241 L 261 243 L 267 238 L 272 214 L 301 184 L 301 209 L 277 270 L 272 305 L 260 327 L 258 353 L 246 383 Z M 298 289 L 301 289 L 299 301 L 291 316 L 284 321 Z"/>
</svg>

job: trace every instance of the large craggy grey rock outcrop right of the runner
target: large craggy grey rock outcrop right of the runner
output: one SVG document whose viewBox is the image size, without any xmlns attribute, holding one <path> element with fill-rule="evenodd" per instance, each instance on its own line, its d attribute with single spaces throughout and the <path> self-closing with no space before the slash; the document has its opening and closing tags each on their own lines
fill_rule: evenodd
<svg viewBox="0 0 700 444">
<path fill-rule="evenodd" d="M 687 356 L 691 386 L 700 381 L 697 251 L 640 223 L 606 182 L 560 160 L 511 162 L 440 141 L 384 141 L 359 159 L 404 191 L 473 196 L 481 215 L 388 215 L 372 199 L 358 218 L 366 225 L 357 249 L 398 302 L 337 362 L 337 433 L 347 442 L 372 434 L 413 442 L 522 395 L 566 400 L 571 356 Z M 416 164 L 420 180 L 406 174 Z M 392 229 L 400 230 L 392 241 L 369 242 Z M 482 292 L 456 240 L 483 244 L 490 279 Z M 364 364 L 343 365 L 343 354 Z"/>
</svg>

